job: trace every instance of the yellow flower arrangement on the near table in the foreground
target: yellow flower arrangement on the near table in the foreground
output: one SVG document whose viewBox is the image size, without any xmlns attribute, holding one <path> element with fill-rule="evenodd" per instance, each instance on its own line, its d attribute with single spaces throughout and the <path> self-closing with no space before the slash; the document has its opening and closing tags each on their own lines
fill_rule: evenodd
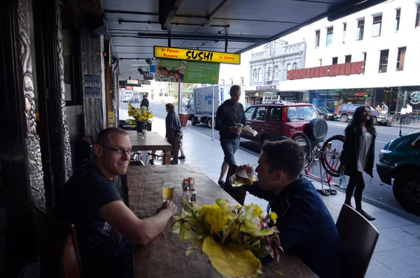
<svg viewBox="0 0 420 278">
<path fill-rule="evenodd" d="M 277 215 L 263 216 L 256 204 L 231 207 L 224 199 L 216 204 L 188 204 L 181 216 L 175 216 L 172 232 L 181 239 L 193 242 L 186 256 L 198 250 L 206 253 L 213 267 L 225 277 L 258 277 L 261 259 L 271 256 L 279 261 L 283 249 L 276 226 Z"/>
</svg>

